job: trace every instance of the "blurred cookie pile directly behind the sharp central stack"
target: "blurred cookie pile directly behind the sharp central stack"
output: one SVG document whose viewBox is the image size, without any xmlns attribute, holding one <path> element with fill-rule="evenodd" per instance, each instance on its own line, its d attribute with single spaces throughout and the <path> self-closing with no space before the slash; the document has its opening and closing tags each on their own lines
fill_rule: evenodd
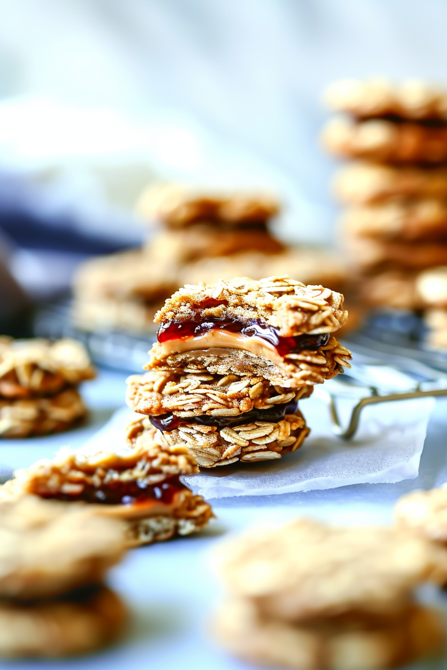
<svg viewBox="0 0 447 670">
<path fill-rule="evenodd" d="M 216 194 L 152 186 L 137 204 L 155 232 L 142 249 L 84 263 L 74 279 L 72 318 L 81 330 L 155 333 L 153 316 L 178 285 L 290 274 L 342 290 L 339 255 L 285 247 L 272 234 L 279 202 L 267 194 Z"/>
</svg>

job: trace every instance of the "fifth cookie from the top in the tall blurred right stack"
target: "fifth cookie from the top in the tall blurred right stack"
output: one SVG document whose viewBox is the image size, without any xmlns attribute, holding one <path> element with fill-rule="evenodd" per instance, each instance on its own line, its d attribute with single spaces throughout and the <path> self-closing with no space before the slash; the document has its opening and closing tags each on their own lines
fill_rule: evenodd
<svg viewBox="0 0 447 670">
<path fill-rule="evenodd" d="M 447 264 L 447 242 L 403 242 L 346 237 L 344 244 L 353 264 L 363 270 L 424 270 Z"/>
</svg>

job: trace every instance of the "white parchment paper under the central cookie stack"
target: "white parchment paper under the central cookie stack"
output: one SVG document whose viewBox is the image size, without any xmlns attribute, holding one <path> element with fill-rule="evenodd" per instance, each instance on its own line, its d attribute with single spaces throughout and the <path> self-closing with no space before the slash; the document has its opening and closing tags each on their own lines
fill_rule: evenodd
<svg viewBox="0 0 447 670">
<path fill-rule="evenodd" d="M 355 401 L 342 401 L 346 421 Z M 310 397 L 300 403 L 311 434 L 294 454 L 277 461 L 202 469 L 182 479 L 194 493 L 205 498 L 259 496 L 348 484 L 399 482 L 418 476 L 426 429 L 434 399 L 412 399 L 366 407 L 359 431 L 344 442 L 332 434 L 328 407 Z M 135 417 L 127 408 L 113 415 L 84 449 L 125 448 L 125 427 Z"/>
</svg>

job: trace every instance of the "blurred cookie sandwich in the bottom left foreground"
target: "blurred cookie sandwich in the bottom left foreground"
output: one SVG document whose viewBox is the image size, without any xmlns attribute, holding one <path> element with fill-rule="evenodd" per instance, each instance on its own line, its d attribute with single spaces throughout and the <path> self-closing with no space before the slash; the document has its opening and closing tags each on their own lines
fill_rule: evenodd
<svg viewBox="0 0 447 670">
<path fill-rule="evenodd" d="M 104 586 L 125 529 L 86 507 L 23 496 L 0 502 L 0 655 L 57 657 L 111 643 L 125 607 Z"/>
</svg>

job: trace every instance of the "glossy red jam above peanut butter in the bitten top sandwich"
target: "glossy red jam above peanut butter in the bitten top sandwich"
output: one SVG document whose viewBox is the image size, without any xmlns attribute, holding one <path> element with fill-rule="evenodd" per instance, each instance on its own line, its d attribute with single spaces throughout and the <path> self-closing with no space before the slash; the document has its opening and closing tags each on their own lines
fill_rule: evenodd
<svg viewBox="0 0 447 670">
<path fill-rule="evenodd" d="M 222 303 L 215 302 L 206 307 L 216 307 Z M 168 342 L 169 340 L 180 340 L 182 338 L 198 337 L 204 335 L 210 330 L 226 330 L 227 332 L 239 333 L 245 337 L 259 337 L 261 340 L 273 344 L 279 356 L 287 356 L 293 352 L 302 350 L 315 351 L 320 346 L 328 343 L 329 333 L 319 335 L 299 335 L 297 337 L 281 337 L 278 335 L 277 328 L 267 326 L 260 321 L 251 321 L 248 324 L 241 324 L 237 319 L 214 319 L 204 321 L 198 315 L 200 320 L 196 321 L 166 321 L 162 323 L 157 332 L 159 342 Z"/>
</svg>

